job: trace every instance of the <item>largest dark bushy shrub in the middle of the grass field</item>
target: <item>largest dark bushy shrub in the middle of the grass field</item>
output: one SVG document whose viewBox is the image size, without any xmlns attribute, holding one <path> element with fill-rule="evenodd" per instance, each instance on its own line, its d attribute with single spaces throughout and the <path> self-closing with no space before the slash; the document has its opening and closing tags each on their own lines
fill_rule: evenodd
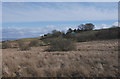
<svg viewBox="0 0 120 79">
<path fill-rule="evenodd" d="M 75 49 L 75 45 L 71 40 L 63 38 L 54 38 L 50 42 L 50 49 L 48 51 L 71 51 Z"/>
</svg>

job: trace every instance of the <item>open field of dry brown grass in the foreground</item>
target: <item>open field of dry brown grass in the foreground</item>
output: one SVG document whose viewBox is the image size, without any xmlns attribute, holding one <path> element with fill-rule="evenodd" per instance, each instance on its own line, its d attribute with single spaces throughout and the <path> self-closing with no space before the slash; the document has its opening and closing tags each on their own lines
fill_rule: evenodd
<svg viewBox="0 0 120 79">
<path fill-rule="evenodd" d="M 3 77 L 116 77 L 118 40 L 76 43 L 75 51 L 47 52 L 49 46 L 2 50 Z"/>
</svg>

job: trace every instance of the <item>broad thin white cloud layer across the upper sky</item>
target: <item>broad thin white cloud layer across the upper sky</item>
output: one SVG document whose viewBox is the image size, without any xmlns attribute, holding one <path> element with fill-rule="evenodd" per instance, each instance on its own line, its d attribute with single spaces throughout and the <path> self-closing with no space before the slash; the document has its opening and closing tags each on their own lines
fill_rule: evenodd
<svg viewBox="0 0 120 79">
<path fill-rule="evenodd" d="M 25 4 L 3 7 L 3 22 L 116 20 L 117 10 L 74 3 L 57 3 L 54 7 Z"/>
</svg>

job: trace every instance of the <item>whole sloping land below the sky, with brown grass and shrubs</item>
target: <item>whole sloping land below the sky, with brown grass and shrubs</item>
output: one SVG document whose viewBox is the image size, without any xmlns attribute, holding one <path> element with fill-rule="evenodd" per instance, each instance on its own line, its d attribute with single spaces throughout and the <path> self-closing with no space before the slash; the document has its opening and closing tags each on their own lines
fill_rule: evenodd
<svg viewBox="0 0 120 79">
<path fill-rule="evenodd" d="M 119 31 L 119 27 L 66 34 L 56 31 L 38 38 L 3 41 L 2 75 L 118 77 Z M 76 49 L 70 50 L 73 44 Z M 51 46 L 55 50 L 51 51 Z"/>
</svg>

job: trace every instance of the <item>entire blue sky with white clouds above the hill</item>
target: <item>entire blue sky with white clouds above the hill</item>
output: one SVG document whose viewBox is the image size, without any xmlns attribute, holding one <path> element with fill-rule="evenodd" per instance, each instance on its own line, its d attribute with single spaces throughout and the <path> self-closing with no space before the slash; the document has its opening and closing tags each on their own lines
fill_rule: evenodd
<svg viewBox="0 0 120 79">
<path fill-rule="evenodd" d="M 3 2 L 3 38 L 29 38 L 93 23 L 95 29 L 118 26 L 117 2 Z"/>
</svg>

